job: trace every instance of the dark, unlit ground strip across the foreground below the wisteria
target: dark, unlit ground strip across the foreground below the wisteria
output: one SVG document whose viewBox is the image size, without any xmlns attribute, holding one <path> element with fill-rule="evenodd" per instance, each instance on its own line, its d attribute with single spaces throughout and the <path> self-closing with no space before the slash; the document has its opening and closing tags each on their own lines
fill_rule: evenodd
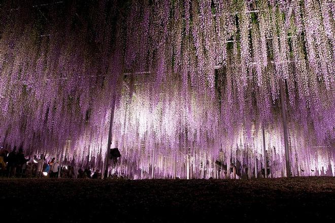
<svg viewBox="0 0 335 223">
<path fill-rule="evenodd" d="M 0 210 L 12 222 L 334 222 L 335 177 L 4 178 L 0 179 Z"/>
</svg>

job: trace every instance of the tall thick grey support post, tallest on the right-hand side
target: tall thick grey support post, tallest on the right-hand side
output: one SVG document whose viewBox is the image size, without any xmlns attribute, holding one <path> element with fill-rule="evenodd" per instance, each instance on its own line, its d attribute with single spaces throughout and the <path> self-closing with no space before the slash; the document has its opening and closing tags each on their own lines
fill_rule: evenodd
<svg viewBox="0 0 335 223">
<path fill-rule="evenodd" d="M 290 171 L 290 160 L 288 154 L 288 136 L 287 136 L 287 120 L 286 120 L 286 108 L 284 102 L 284 90 L 283 90 L 283 81 L 279 78 L 279 92 L 280 92 L 280 104 L 282 107 L 282 119 L 283 119 L 283 128 L 284 128 L 284 145 L 285 145 L 285 159 L 286 159 L 286 177 L 291 176 Z"/>
</svg>

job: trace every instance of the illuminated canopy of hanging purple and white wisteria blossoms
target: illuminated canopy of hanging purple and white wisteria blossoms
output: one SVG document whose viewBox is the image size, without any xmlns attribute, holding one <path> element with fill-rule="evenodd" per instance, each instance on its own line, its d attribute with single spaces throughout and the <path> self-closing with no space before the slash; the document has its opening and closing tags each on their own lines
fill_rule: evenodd
<svg viewBox="0 0 335 223">
<path fill-rule="evenodd" d="M 112 171 L 202 178 L 264 129 L 281 177 L 282 83 L 292 175 L 335 175 L 333 0 L 77 2 L 0 6 L 1 145 L 101 169 L 112 116 Z"/>
</svg>

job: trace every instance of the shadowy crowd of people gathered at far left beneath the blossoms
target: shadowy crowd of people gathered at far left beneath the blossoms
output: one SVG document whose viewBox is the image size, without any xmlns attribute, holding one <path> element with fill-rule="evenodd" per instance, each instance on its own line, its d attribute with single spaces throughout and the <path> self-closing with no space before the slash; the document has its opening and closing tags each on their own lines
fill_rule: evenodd
<svg viewBox="0 0 335 223">
<path fill-rule="evenodd" d="M 45 155 L 31 159 L 23 154 L 22 147 L 16 152 L 14 146 L 11 152 L 0 151 L 0 177 L 50 177 L 50 178 L 101 178 L 101 173 L 92 168 L 76 168 L 71 165 L 61 164 L 55 158 L 49 162 Z"/>
</svg>

